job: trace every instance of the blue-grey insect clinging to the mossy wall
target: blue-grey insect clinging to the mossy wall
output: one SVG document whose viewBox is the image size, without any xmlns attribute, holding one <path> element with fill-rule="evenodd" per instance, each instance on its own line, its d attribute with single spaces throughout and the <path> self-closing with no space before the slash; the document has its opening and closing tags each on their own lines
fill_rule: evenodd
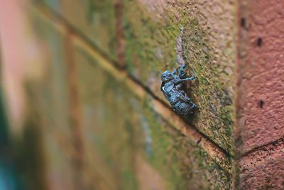
<svg viewBox="0 0 284 190">
<path fill-rule="evenodd" d="M 173 72 L 165 70 L 161 78 L 162 85 L 160 86 L 160 90 L 176 113 L 188 115 L 192 113 L 193 109 L 197 108 L 197 105 L 192 102 L 190 97 L 188 97 L 183 90 L 185 81 L 194 80 L 196 78 L 196 76 L 187 78 L 185 65 L 182 65 L 178 70 L 173 70 Z"/>
</svg>

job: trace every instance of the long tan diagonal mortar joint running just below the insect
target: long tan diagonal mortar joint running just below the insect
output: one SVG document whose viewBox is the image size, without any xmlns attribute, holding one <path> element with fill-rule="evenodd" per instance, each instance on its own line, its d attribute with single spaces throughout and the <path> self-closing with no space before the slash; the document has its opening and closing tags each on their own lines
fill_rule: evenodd
<svg viewBox="0 0 284 190">
<path fill-rule="evenodd" d="M 124 83 L 130 87 L 130 90 L 132 90 L 136 96 L 142 99 L 146 97 L 151 98 L 153 110 L 155 110 L 155 112 L 173 125 L 175 129 L 197 142 L 197 145 L 204 149 L 204 151 L 209 154 L 209 157 L 212 157 L 212 159 L 214 159 L 223 169 L 227 171 L 231 170 L 229 165 L 231 163 L 230 159 L 232 156 L 226 152 L 225 149 L 219 147 L 218 144 L 209 139 L 209 137 L 205 134 L 202 134 L 202 132 L 198 131 L 195 127 L 182 120 L 180 116 L 170 110 L 165 102 L 159 100 L 151 90 L 146 89 L 141 85 L 141 83 L 138 83 L 136 79 L 133 79 L 126 70 L 122 70 L 121 68 L 118 68 L 117 65 L 112 64 L 114 63 L 114 60 L 109 59 L 109 57 L 105 53 L 102 53 L 102 51 L 97 51 L 98 47 L 89 41 L 84 34 L 79 32 L 76 28 L 74 28 L 74 26 L 62 18 L 62 16 L 57 13 L 54 14 L 53 11 L 42 6 L 31 6 L 31 9 L 34 9 L 39 14 L 45 16 L 49 21 L 54 23 L 55 26 L 65 26 L 66 30 L 71 30 L 71 36 L 75 43 L 84 48 L 90 55 L 97 58 L 99 60 L 97 63 L 98 65 L 104 68 L 104 70 L 107 70 L 108 73 L 111 73 L 111 75 L 117 80 L 124 80 Z"/>
</svg>

